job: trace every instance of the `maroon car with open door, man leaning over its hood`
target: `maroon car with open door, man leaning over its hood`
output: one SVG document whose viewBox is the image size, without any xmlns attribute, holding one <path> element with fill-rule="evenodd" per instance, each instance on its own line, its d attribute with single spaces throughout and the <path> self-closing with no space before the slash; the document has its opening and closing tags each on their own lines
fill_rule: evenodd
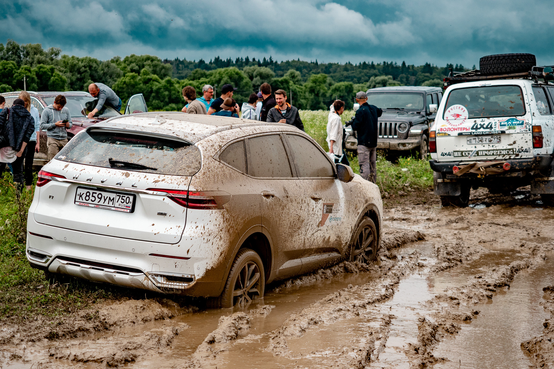
<svg viewBox="0 0 554 369">
<path fill-rule="evenodd" d="M 19 96 L 20 91 L 0 93 L 1 96 L 6 98 L 6 107 L 11 107 L 12 103 Z M 92 126 L 95 123 L 104 121 L 107 118 L 121 115 L 121 113 L 115 108 L 108 106 L 107 104 L 94 115 L 94 118 L 89 119 L 86 116 L 89 112 L 93 111 L 98 102 L 98 98 L 90 95 L 88 92 L 81 91 L 66 91 L 66 92 L 34 92 L 27 91 L 31 96 L 31 103 L 38 109 L 39 115 L 48 105 L 54 102 L 54 98 L 58 95 L 64 95 L 67 100 L 65 105 L 71 113 L 71 121 L 73 126 L 68 129 L 68 138 L 71 139 L 75 134 L 82 131 L 86 127 Z M 142 93 L 133 95 L 129 98 L 127 106 L 125 107 L 125 114 L 129 113 L 142 113 L 147 112 L 146 101 L 142 96 Z M 48 163 L 47 160 L 48 148 L 46 145 L 46 131 L 40 132 L 40 150 L 35 153 L 33 165 L 42 167 L 42 165 Z"/>
</svg>

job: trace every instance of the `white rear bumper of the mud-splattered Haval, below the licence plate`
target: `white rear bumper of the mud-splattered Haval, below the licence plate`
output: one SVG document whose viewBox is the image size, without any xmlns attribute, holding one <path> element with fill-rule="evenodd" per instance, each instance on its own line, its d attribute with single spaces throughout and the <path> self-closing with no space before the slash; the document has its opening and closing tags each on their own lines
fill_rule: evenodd
<svg viewBox="0 0 554 369">
<path fill-rule="evenodd" d="M 152 256 L 174 255 L 175 245 L 127 240 L 27 222 L 27 260 L 32 267 L 94 282 L 160 293 L 217 296 L 222 280 L 206 273 L 202 257 L 188 260 Z M 33 232 L 40 237 L 29 233 Z M 171 250 L 173 248 L 173 250 Z M 180 251 L 187 250 L 181 245 Z"/>
</svg>

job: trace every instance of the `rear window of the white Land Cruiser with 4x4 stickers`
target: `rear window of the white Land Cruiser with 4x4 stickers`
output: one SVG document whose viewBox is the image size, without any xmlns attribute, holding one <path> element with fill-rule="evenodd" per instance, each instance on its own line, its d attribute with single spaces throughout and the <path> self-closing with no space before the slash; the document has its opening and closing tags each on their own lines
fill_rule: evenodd
<svg viewBox="0 0 554 369">
<path fill-rule="evenodd" d="M 469 118 L 525 115 L 519 86 L 469 87 L 450 91 L 444 112 L 453 105 L 465 106 Z"/>
</svg>

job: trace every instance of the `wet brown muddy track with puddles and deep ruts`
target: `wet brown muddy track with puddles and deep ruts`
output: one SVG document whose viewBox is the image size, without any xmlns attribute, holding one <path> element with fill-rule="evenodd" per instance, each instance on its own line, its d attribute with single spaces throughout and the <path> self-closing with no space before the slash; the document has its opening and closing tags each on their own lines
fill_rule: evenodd
<svg viewBox="0 0 554 369">
<path fill-rule="evenodd" d="M 242 309 L 127 300 L 4 323 L 0 366 L 554 367 L 554 209 L 526 193 L 472 202 L 388 209 L 376 263 L 270 285 Z"/>
</svg>

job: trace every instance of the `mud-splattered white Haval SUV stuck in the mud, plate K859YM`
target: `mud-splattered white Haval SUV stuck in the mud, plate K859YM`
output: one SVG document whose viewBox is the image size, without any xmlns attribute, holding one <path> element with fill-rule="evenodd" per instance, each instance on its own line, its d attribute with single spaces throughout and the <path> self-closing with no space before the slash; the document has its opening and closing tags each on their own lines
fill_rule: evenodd
<svg viewBox="0 0 554 369">
<path fill-rule="evenodd" d="M 39 173 L 27 258 L 47 273 L 212 297 L 375 258 L 377 186 L 288 124 L 141 113 L 77 134 Z"/>
</svg>

